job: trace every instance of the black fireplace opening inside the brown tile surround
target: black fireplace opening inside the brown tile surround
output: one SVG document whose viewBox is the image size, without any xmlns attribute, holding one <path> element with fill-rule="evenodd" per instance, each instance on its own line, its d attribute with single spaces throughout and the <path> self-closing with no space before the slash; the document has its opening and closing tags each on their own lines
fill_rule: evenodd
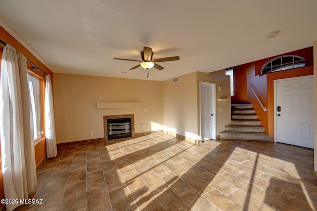
<svg viewBox="0 0 317 211">
<path fill-rule="evenodd" d="M 131 118 L 107 119 L 107 139 L 132 137 Z"/>
</svg>

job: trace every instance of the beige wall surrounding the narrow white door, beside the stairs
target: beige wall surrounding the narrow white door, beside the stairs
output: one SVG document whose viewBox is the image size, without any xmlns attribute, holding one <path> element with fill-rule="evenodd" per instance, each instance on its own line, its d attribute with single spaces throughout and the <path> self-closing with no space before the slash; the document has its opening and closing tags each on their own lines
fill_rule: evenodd
<svg viewBox="0 0 317 211">
<path fill-rule="evenodd" d="M 200 81 L 216 84 L 216 135 L 224 130 L 224 126 L 229 125 L 231 121 L 231 97 L 230 97 L 230 76 L 225 75 L 225 70 L 219 70 L 211 73 L 197 73 L 197 96 L 200 92 Z M 218 86 L 222 90 L 218 91 Z M 218 101 L 218 99 L 228 99 L 228 101 Z M 200 128 L 200 99 L 197 101 L 198 107 L 198 128 Z M 222 108 L 223 111 L 219 111 Z M 198 134 L 200 135 L 200 129 Z"/>
</svg>

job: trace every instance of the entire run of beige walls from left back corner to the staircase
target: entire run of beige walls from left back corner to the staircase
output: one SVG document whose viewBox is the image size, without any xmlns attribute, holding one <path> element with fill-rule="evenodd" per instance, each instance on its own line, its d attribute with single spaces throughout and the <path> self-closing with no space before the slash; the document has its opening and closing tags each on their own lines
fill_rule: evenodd
<svg viewBox="0 0 317 211">
<path fill-rule="evenodd" d="M 102 138 L 104 116 L 131 113 L 135 116 L 135 133 L 164 129 L 190 141 L 200 140 L 200 81 L 216 83 L 218 135 L 230 124 L 230 79 L 225 70 L 189 73 L 179 76 L 176 83 L 172 79 L 160 82 L 55 73 L 57 143 Z M 222 91 L 218 91 L 218 85 L 222 85 Z M 219 98 L 228 101 L 219 102 Z M 140 107 L 98 109 L 97 103 L 102 102 L 139 102 Z"/>
</svg>

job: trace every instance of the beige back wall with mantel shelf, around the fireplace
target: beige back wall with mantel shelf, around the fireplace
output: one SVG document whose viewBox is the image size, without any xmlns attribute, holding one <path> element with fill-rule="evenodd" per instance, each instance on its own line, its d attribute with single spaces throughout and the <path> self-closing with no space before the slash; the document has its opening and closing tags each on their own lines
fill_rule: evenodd
<svg viewBox="0 0 317 211">
<path fill-rule="evenodd" d="M 98 109 L 100 102 L 139 102 L 140 107 Z M 160 130 L 163 82 L 54 73 L 54 112 L 57 143 L 104 137 L 105 115 L 134 113 L 135 133 Z"/>
</svg>

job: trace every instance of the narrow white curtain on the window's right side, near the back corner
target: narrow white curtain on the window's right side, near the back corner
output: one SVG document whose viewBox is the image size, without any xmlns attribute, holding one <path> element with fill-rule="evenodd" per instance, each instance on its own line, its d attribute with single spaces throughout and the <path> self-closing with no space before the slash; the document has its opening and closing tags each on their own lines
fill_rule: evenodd
<svg viewBox="0 0 317 211">
<path fill-rule="evenodd" d="M 53 109 L 53 92 L 51 76 L 45 76 L 45 137 L 46 137 L 46 157 L 53 158 L 57 155 L 55 121 Z"/>
</svg>

